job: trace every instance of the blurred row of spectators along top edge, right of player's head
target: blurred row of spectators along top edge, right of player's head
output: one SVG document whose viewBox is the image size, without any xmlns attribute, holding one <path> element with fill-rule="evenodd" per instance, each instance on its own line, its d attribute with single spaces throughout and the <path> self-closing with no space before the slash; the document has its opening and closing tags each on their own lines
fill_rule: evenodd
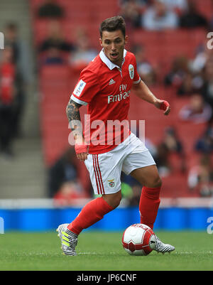
<svg viewBox="0 0 213 285">
<path fill-rule="evenodd" d="M 210 28 L 196 0 L 120 0 L 120 14 L 128 28 L 160 31 L 168 28 Z"/>
</svg>

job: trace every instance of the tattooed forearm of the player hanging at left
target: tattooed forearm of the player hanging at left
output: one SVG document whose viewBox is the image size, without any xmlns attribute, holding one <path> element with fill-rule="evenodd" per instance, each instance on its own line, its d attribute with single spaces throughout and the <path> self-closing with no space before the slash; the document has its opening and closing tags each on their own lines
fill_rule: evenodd
<svg viewBox="0 0 213 285">
<path fill-rule="evenodd" d="M 75 135 L 79 134 L 82 136 L 82 124 L 79 112 L 81 106 L 81 104 L 77 104 L 75 101 L 70 99 L 70 102 L 67 104 L 66 113 L 70 129 L 75 131 Z"/>
</svg>

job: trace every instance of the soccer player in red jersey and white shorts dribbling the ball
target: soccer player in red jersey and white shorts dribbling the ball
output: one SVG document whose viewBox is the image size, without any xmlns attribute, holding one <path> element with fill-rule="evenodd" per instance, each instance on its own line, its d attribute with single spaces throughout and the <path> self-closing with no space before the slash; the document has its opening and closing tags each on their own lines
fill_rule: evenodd
<svg viewBox="0 0 213 285">
<path fill-rule="evenodd" d="M 137 73 L 136 58 L 124 48 L 126 24 L 121 16 L 104 20 L 99 28 L 102 50 L 84 68 L 67 104 L 67 118 L 75 134 L 75 152 L 89 171 L 94 193 L 102 195 L 84 205 L 70 224 L 59 225 L 57 231 L 62 251 L 76 255 L 77 237 L 94 225 L 121 201 L 121 171 L 136 178 L 141 185 L 139 212 L 141 223 L 153 229 L 160 204 L 161 180 L 155 161 L 144 143 L 131 131 L 128 122 L 130 90 L 162 109 L 165 115 L 170 105 L 156 98 Z M 80 107 L 87 105 L 88 120 L 82 134 Z M 122 124 L 114 124 L 122 122 Z M 175 249 L 158 237 L 157 252 Z"/>
</svg>

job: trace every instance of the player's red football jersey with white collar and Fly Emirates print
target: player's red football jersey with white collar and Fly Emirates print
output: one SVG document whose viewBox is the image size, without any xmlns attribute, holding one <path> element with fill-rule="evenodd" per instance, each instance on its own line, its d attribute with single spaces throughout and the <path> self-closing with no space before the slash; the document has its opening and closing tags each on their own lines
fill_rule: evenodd
<svg viewBox="0 0 213 285">
<path fill-rule="evenodd" d="M 140 80 L 135 55 L 126 50 L 121 68 L 102 50 L 82 70 L 71 99 L 87 105 L 84 139 L 89 144 L 89 154 L 110 151 L 129 136 L 130 92 Z"/>
</svg>

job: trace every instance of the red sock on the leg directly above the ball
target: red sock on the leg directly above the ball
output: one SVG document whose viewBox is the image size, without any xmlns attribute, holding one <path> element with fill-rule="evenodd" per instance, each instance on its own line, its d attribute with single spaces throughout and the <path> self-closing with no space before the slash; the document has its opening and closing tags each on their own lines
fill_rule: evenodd
<svg viewBox="0 0 213 285">
<path fill-rule="evenodd" d="M 160 187 L 148 188 L 143 186 L 139 202 L 139 211 L 141 214 L 141 224 L 148 225 L 153 229 L 155 219 L 160 205 Z"/>
</svg>

